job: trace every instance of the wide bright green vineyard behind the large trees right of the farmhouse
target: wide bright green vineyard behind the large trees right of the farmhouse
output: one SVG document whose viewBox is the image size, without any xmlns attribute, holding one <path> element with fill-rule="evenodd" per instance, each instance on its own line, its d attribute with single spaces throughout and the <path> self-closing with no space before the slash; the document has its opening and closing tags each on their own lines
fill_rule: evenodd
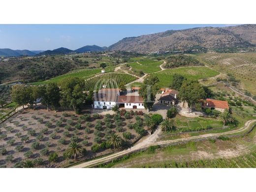
<svg viewBox="0 0 256 192">
<path fill-rule="evenodd" d="M 219 74 L 219 72 L 205 66 L 166 69 L 166 70 L 157 72 L 155 74 L 158 76 L 160 80 L 159 85 L 161 87 L 169 87 L 170 83 L 173 80 L 173 75 L 175 73 L 181 74 L 187 79 L 191 79 L 191 80 L 204 79 L 204 78 L 213 77 Z"/>
</svg>

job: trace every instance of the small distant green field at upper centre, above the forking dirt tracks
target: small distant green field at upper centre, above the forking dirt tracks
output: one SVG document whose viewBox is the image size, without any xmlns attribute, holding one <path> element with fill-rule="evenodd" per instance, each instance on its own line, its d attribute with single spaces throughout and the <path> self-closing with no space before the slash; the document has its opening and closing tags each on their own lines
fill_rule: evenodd
<svg viewBox="0 0 256 192">
<path fill-rule="evenodd" d="M 154 73 L 160 71 L 160 64 L 163 62 L 153 61 L 149 59 L 141 60 L 134 63 L 129 64 L 134 71 L 143 71 L 144 73 Z"/>
</svg>

